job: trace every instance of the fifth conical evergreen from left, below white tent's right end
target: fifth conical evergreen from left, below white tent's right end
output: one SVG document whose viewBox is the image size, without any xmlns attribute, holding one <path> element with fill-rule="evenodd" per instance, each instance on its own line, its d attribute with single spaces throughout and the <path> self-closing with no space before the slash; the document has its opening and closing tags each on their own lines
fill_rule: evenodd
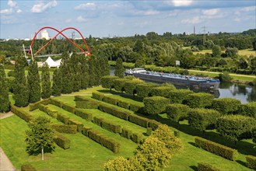
<svg viewBox="0 0 256 171">
<path fill-rule="evenodd" d="M 61 70 L 55 69 L 53 75 L 53 84 L 51 87 L 52 95 L 54 96 L 61 96 L 62 90 L 62 78 L 61 78 Z"/>
</svg>

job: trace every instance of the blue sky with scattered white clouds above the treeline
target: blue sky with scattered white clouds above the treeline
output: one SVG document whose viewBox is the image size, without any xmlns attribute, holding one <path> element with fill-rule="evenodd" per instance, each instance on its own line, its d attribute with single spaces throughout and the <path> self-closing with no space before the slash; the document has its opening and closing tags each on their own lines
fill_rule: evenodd
<svg viewBox="0 0 256 171">
<path fill-rule="evenodd" d="M 1 39 L 30 38 L 44 26 L 75 27 L 84 37 L 193 33 L 194 26 L 195 33 L 203 33 L 204 26 L 209 33 L 256 28 L 255 0 L 1 0 L 0 5 Z M 71 37 L 72 30 L 63 33 Z"/>
</svg>

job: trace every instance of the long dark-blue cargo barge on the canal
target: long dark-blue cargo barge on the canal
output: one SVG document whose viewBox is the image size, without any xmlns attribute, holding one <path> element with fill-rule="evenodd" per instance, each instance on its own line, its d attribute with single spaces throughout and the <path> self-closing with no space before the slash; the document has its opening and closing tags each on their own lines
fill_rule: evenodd
<svg viewBox="0 0 256 171">
<path fill-rule="evenodd" d="M 139 79 L 152 82 L 170 82 L 175 86 L 185 86 L 192 89 L 219 89 L 219 79 L 176 75 L 163 72 L 149 72 L 142 68 L 125 70 L 124 75 L 134 75 Z"/>
</svg>

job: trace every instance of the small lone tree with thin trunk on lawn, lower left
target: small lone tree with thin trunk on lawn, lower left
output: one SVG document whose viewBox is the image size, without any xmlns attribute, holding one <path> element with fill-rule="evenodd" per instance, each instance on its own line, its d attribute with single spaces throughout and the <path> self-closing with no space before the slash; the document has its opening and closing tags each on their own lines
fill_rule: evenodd
<svg viewBox="0 0 256 171">
<path fill-rule="evenodd" d="M 44 160 L 44 148 L 50 151 L 54 149 L 54 130 L 51 128 L 51 121 L 46 117 L 37 117 L 28 126 L 30 130 L 26 131 L 26 152 L 41 150 Z"/>
</svg>

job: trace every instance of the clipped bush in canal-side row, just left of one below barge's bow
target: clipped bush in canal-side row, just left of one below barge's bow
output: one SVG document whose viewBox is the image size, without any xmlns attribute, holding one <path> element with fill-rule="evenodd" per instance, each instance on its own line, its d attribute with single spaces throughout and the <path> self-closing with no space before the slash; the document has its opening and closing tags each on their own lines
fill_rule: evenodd
<svg viewBox="0 0 256 171">
<path fill-rule="evenodd" d="M 175 89 L 169 92 L 170 103 L 183 103 L 188 95 L 194 93 L 190 89 Z"/>
</svg>

